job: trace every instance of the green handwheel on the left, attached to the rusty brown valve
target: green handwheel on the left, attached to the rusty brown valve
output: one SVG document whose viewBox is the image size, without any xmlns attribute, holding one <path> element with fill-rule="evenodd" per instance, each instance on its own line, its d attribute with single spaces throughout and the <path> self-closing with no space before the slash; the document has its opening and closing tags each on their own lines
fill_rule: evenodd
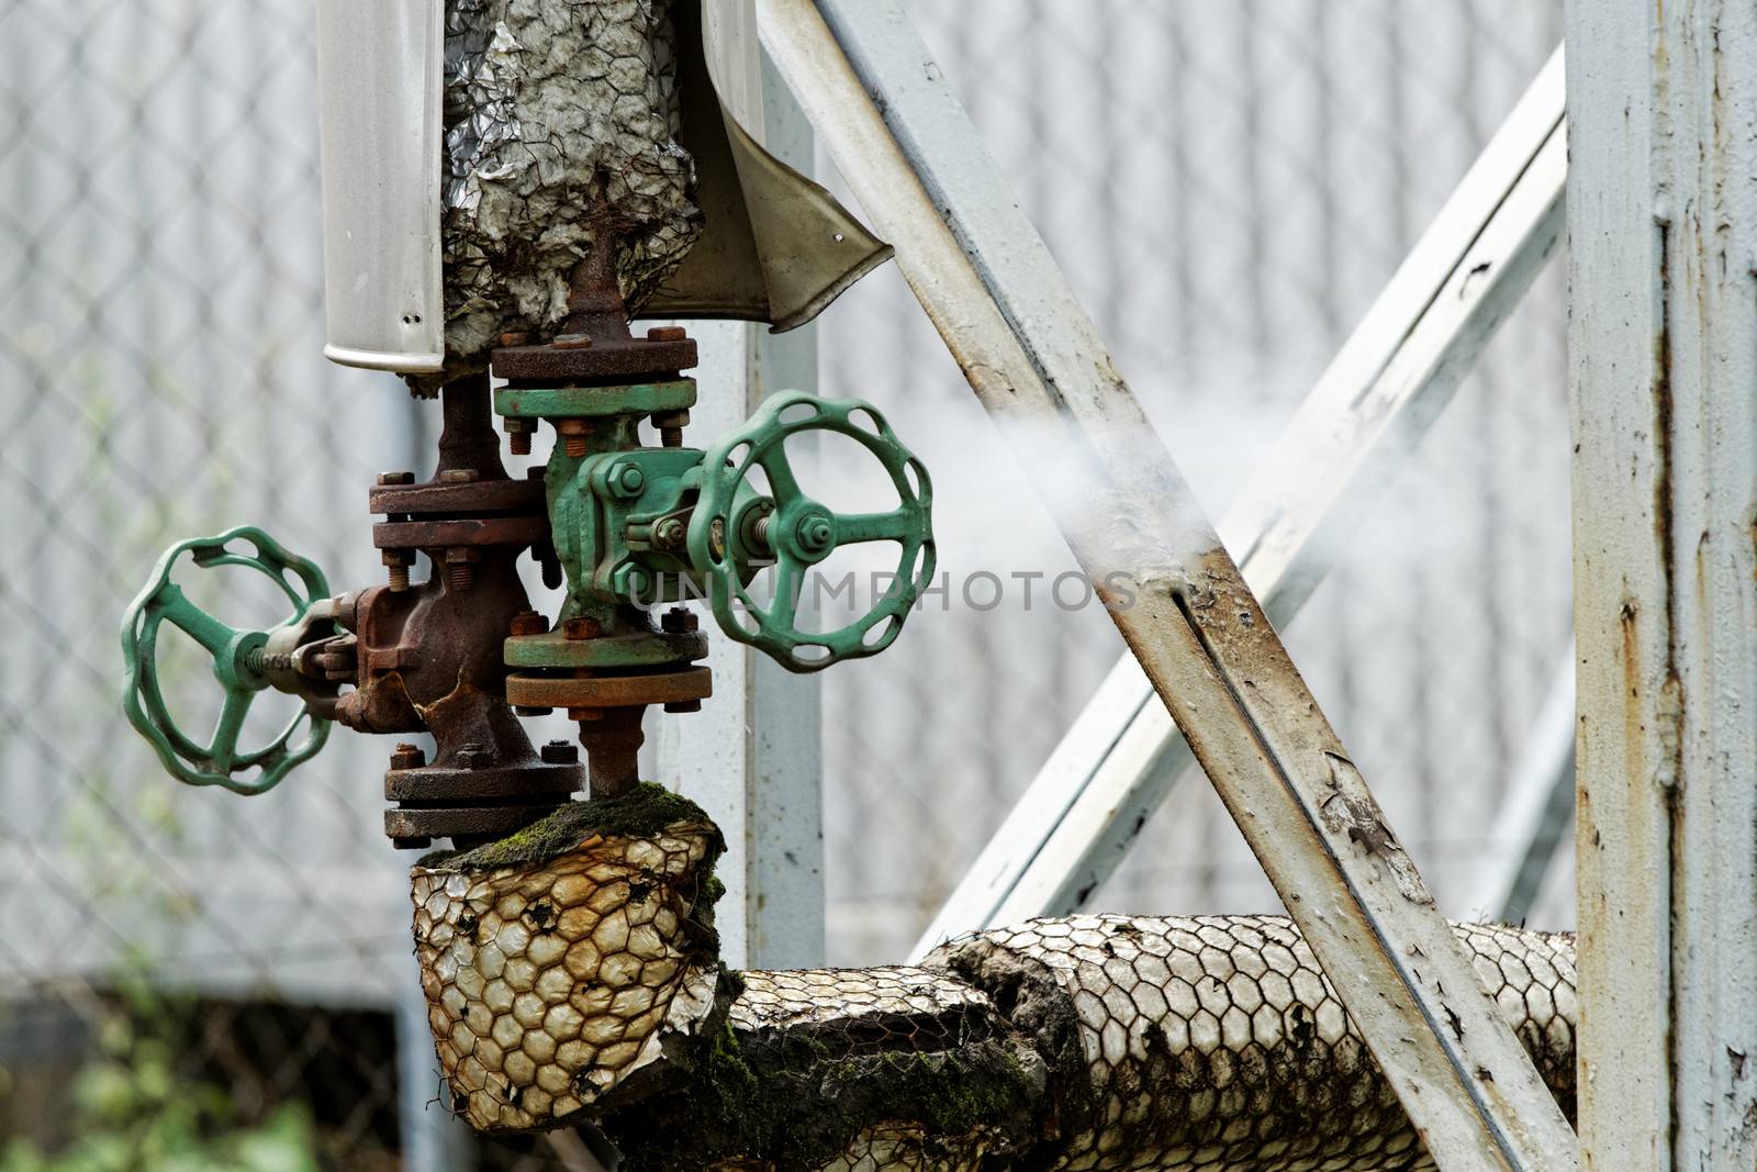
<svg viewBox="0 0 1757 1172">
<path fill-rule="evenodd" d="M 184 553 L 204 569 L 248 566 L 265 573 L 293 603 L 293 615 L 271 631 L 228 627 L 184 597 L 183 589 L 170 580 Z M 271 685 L 264 662 L 269 638 L 276 631 L 304 624 L 313 608 L 327 599 L 329 582 L 316 562 L 288 553 L 274 538 L 251 525 L 239 525 L 216 538 L 183 541 L 165 550 L 151 582 L 123 615 L 121 655 L 127 669 L 123 710 L 172 777 L 190 785 L 225 785 L 237 794 L 260 794 L 323 747 L 330 722 L 311 712 L 309 703 L 264 749 L 241 752 L 237 742 L 251 701 L 257 692 Z M 165 706 L 158 684 L 158 627 L 163 622 L 186 633 L 213 655 L 214 678 L 225 691 L 220 719 L 206 743 L 184 734 Z M 293 745 L 299 724 L 307 719 L 309 733 Z M 253 778 L 237 777 L 249 770 L 260 773 Z"/>
</svg>

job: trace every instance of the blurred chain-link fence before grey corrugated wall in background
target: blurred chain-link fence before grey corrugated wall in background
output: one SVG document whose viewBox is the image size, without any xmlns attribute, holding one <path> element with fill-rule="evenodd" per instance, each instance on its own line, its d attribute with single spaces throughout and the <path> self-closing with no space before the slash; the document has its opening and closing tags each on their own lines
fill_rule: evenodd
<svg viewBox="0 0 1757 1172">
<path fill-rule="evenodd" d="M 1560 35 L 1558 0 L 912 7 L 1214 510 Z M 429 1102 L 387 745 L 235 801 L 119 720 L 160 550 L 251 520 L 372 582 L 364 487 L 430 467 L 430 413 L 320 357 L 309 4 L 11 0 L 0 42 L 0 1170 L 582 1167 Z M 821 351 L 933 469 L 954 582 L 1072 568 L 894 269 Z M 1553 278 L 1421 452 L 1290 638 L 1444 900 L 1565 638 Z M 1021 603 L 954 590 L 826 673 L 833 959 L 900 958 L 1121 650 L 1096 608 Z M 1095 905 L 1274 900 L 1184 778 Z"/>
</svg>

